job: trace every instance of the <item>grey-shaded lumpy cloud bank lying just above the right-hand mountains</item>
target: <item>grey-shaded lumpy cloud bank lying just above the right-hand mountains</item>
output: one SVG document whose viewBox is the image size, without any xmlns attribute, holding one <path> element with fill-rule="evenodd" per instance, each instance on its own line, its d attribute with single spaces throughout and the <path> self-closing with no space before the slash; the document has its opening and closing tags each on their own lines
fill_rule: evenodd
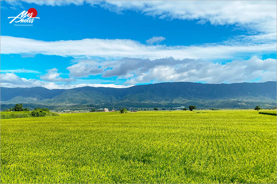
<svg viewBox="0 0 277 184">
<path fill-rule="evenodd" d="M 90 63 L 91 62 L 91 63 Z M 67 67 L 75 76 L 98 75 L 94 72 L 83 72 L 78 68 L 99 68 L 102 78 L 117 77 L 126 80 L 125 84 L 151 82 L 209 82 L 232 83 L 250 82 L 259 78 L 259 82 L 276 80 L 276 59 L 259 59 L 253 56 L 249 60 L 233 60 L 227 63 L 214 63 L 203 59 L 139 59 L 122 58 L 115 61 L 81 60 L 74 64 L 78 67 Z M 73 66 L 74 66 L 73 65 Z M 113 82 L 113 81 L 111 81 Z"/>
</svg>

